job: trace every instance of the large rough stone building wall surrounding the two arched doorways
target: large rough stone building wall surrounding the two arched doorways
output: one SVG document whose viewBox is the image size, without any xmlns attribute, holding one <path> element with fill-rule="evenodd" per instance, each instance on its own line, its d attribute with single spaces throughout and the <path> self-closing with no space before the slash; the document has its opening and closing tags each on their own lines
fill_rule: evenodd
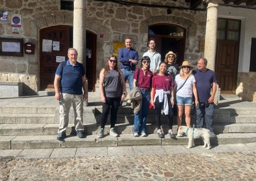
<svg viewBox="0 0 256 181">
<path fill-rule="evenodd" d="M 148 26 L 156 23 L 171 23 L 186 29 L 185 59 L 196 65 L 202 56 L 199 43 L 205 39 L 206 12 L 195 10 L 152 8 L 142 6 L 125 6 L 111 2 L 86 2 L 86 29 L 98 35 L 97 39 L 97 80 L 104 67 L 104 60 L 113 53 L 113 42 L 124 42 L 132 37 L 134 48 L 141 57 L 147 51 Z M 143 4 L 188 7 L 189 3 L 179 1 L 137 1 Z M 182 4 L 182 5 L 181 5 Z M 199 7 L 200 8 L 200 7 Z M 0 56 L 0 81 L 23 82 L 25 94 L 35 95 L 39 87 L 39 30 L 54 25 L 73 25 L 73 12 L 60 10 L 60 1 L 56 0 L 0 0 L 0 9 L 8 10 L 8 21 L 1 22 L 0 36 L 23 38 L 25 42 L 34 43 L 35 54 L 23 57 Z M 22 15 L 22 27 L 18 35 L 12 34 L 10 17 Z M 103 34 L 103 38 L 99 35 Z M 98 82 L 98 81 L 97 81 Z"/>
</svg>

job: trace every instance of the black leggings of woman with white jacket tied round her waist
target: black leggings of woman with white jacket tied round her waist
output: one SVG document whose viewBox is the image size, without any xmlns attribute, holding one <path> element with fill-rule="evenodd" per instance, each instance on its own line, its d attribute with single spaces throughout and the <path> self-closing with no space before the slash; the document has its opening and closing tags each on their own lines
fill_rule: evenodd
<svg viewBox="0 0 256 181">
<path fill-rule="evenodd" d="M 169 111 L 168 111 L 168 129 L 173 129 L 173 108 L 172 108 L 172 104 L 170 103 L 170 95 L 167 94 L 167 99 L 168 99 L 168 107 L 169 107 Z M 157 125 L 157 129 L 161 129 L 161 110 L 162 110 L 162 106 L 163 106 L 164 100 L 163 102 L 159 102 L 158 100 L 158 96 L 156 97 L 156 102 L 154 102 L 154 105 L 156 106 L 156 125 Z"/>
</svg>

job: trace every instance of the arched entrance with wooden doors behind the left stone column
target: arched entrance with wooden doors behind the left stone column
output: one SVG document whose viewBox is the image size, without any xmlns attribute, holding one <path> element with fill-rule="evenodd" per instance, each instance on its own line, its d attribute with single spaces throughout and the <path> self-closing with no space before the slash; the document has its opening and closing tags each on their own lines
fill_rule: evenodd
<svg viewBox="0 0 256 181">
<path fill-rule="evenodd" d="M 54 89 L 54 77 L 58 64 L 67 60 L 67 50 L 73 47 L 73 27 L 68 25 L 57 25 L 41 29 L 39 31 L 39 62 L 40 62 L 40 90 Z M 43 40 L 55 43 L 51 48 L 43 45 Z M 97 35 L 86 31 L 86 76 L 88 79 L 88 90 L 95 91 L 96 63 L 97 63 Z M 44 50 L 43 50 L 44 49 Z M 79 53 L 79 52 L 78 52 Z"/>
</svg>

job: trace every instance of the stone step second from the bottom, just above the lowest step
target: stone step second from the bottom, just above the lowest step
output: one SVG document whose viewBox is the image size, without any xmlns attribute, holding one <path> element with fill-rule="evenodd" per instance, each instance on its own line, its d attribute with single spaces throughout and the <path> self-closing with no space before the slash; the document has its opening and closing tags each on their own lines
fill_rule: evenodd
<svg viewBox="0 0 256 181">
<path fill-rule="evenodd" d="M 85 134 L 98 134 L 100 124 L 84 124 Z M 256 133 L 256 124 L 254 123 L 235 123 L 235 124 L 214 124 L 215 133 Z M 57 135 L 58 124 L 1 124 L 0 136 L 11 135 Z M 109 131 L 110 125 L 106 124 L 105 131 Z M 134 125 L 122 123 L 115 125 L 116 132 L 119 134 L 133 133 Z M 167 123 L 162 123 L 162 130 L 168 133 Z M 173 125 L 174 134 L 177 133 L 177 125 Z M 157 133 L 155 124 L 147 124 L 148 134 Z M 67 134 L 75 134 L 72 124 L 67 128 Z"/>
</svg>

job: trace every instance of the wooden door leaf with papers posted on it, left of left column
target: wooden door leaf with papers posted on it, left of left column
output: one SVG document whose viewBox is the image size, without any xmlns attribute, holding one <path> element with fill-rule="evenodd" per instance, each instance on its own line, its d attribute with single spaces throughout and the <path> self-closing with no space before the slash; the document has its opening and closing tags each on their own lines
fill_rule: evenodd
<svg viewBox="0 0 256 181">
<path fill-rule="evenodd" d="M 58 25 L 40 30 L 40 90 L 54 89 L 55 72 L 60 62 L 56 62 L 56 56 L 67 57 L 68 48 L 72 47 L 71 26 Z M 42 40 L 60 42 L 60 50 L 42 52 Z"/>
</svg>

